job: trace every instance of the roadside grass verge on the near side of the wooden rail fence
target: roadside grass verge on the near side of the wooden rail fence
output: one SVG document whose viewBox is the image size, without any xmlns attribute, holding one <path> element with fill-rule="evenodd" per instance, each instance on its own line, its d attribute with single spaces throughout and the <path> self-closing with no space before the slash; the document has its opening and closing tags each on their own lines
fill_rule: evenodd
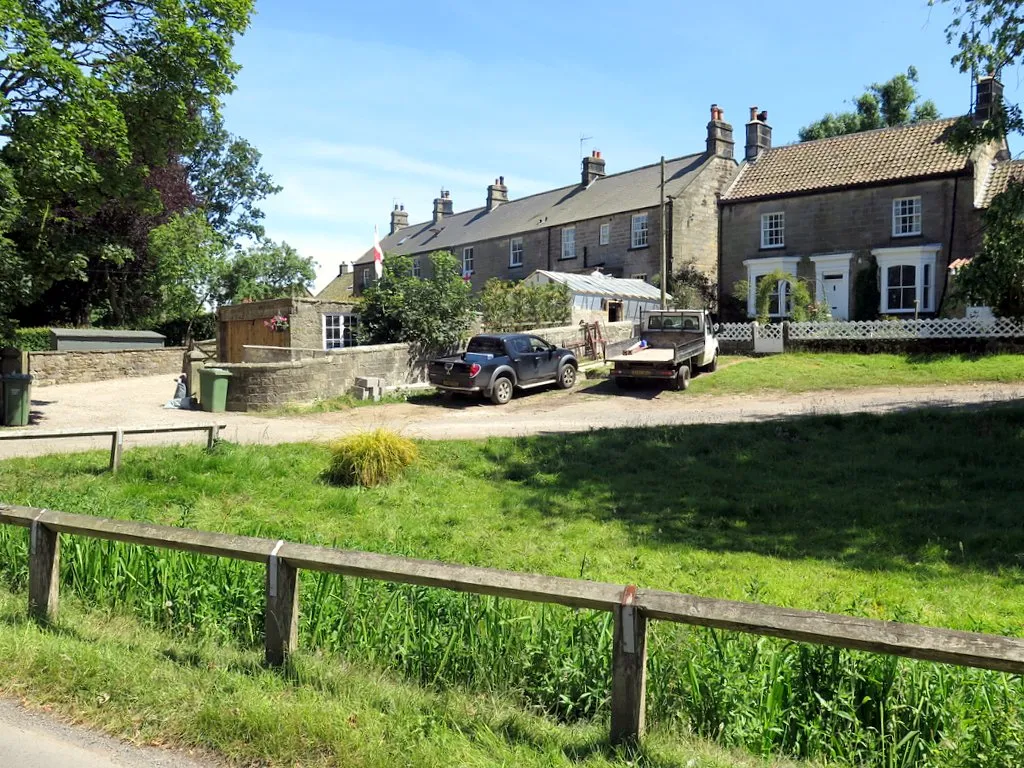
<svg viewBox="0 0 1024 768">
<path fill-rule="evenodd" d="M 43 630 L 25 600 L 0 588 L 0 695 L 136 743 L 267 767 L 783 768 L 666 730 L 627 757 L 605 745 L 602 724 L 556 725 L 497 696 L 425 691 L 321 654 L 275 674 L 258 651 L 171 638 L 75 599 Z"/>
</svg>

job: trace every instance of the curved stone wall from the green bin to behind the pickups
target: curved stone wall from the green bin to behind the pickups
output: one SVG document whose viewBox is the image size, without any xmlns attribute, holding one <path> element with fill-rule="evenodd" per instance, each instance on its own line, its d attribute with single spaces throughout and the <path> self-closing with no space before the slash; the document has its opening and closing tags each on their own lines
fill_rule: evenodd
<svg viewBox="0 0 1024 768">
<path fill-rule="evenodd" d="M 630 322 L 609 323 L 601 327 L 609 343 L 633 336 Z M 578 326 L 538 329 L 529 333 L 552 344 L 566 344 L 582 339 Z M 229 411 L 259 411 L 288 402 L 312 402 L 349 392 L 356 377 L 384 379 L 385 386 L 401 387 L 426 381 L 427 362 L 433 355 L 418 356 L 409 344 L 379 344 L 333 349 L 328 354 L 288 359 L 294 350 L 250 348 L 251 354 L 279 361 L 240 362 L 218 366 L 231 373 L 227 386 Z M 280 359 L 284 358 L 284 359 Z"/>
</svg>

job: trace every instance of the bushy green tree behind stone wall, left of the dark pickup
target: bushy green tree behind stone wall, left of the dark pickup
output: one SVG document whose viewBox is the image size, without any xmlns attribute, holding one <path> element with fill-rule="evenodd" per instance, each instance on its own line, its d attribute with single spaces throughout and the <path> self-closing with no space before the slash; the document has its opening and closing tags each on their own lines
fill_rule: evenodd
<svg viewBox="0 0 1024 768">
<path fill-rule="evenodd" d="M 430 254 L 432 274 L 413 276 L 408 256 L 384 258 L 381 279 L 362 292 L 359 330 L 371 344 L 409 342 L 424 351 L 451 348 L 465 337 L 473 317 L 469 284 L 449 251 Z"/>
</svg>

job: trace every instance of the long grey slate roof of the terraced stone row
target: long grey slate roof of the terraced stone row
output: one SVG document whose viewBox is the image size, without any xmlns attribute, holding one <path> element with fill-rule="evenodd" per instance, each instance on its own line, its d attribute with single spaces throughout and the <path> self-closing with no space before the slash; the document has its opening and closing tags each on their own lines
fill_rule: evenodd
<svg viewBox="0 0 1024 768">
<path fill-rule="evenodd" d="M 709 162 L 705 154 L 687 155 L 665 163 L 665 194 L 678 196 Z M 587 186 L 571 184 L 503 203 L 493 211 L 486 207 L 445 216 L 437 224 L 424 221 L 399 229 L 381 241 L 384 253 L 409 255 L 456 248 L 562 226 L 574 221 L 658 205 L 660 163 L 603 176 Z M 481 196 L 482 197 L 482 196 Z M 373 261 L 373 249 L 355 263 Z"/>
</svg>

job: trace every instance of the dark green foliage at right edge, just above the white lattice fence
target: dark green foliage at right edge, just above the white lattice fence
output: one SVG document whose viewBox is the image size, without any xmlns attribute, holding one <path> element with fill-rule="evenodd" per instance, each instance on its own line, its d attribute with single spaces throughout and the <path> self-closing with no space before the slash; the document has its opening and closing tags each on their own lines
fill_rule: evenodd
<svg viewBox="0 0 1024 768">
<path fill-rule="evenodd" d="M 984 213 L 981 250 L 962 267 L 954 297 L 989 306 L 1002 317 L 1024 317 L 1024 183 L 1013 182 Z"/>
</svg>

